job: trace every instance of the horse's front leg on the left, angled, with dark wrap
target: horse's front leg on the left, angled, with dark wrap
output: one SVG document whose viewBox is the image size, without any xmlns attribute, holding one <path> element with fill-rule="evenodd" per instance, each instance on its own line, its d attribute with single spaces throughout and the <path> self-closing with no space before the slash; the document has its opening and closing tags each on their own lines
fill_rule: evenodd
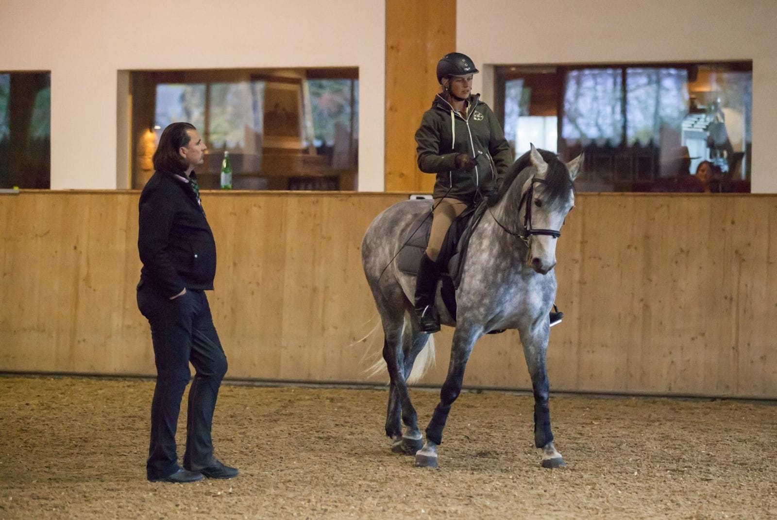
<svg viewBox="0 0 777 520">
<path fill-rule="evenodd" d="M 442 431 L 445 428 L 445 421 L 448 421 L 448 414 L 451 412 L 451 405 L 462 392 L 462 382 L 464 381 L 464 371 L 467 367 L 469 354 L 472 354 L 472 347 L 483 333 L 482 328 L 475 327 L 464 328 L 462 323 L 456 326 L 453 334 L 453 344 L 451 345 L 451 362 L 448 365 L 448 376 L 445 378 L 440 391 L 440 402 L 434 409 L 431 421 L 427 426 L 427 441 L 420 452 L 416 453 L 416 466 L 426 466 L 436 468 L 437 465 L 437 446 L 442 444 Z"/>
</svg>

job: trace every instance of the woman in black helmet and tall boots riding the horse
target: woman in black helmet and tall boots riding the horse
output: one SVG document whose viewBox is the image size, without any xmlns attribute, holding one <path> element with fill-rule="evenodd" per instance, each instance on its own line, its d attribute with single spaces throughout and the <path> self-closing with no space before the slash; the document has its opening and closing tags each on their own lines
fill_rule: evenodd
<svg viewBox="0 0 777 520">
<path fill-rule="evenodd" d="M 434 295 L 441 270 L 437 257 L 445 234 L 462 211 L 497 189 L 497 179 L 513 162 L 497 117 L 479 100 L 479 94 L 471 93 L 472 75 L 478 72 L 465 54 L 444 55 L 437 62 L 442 92 L 434 96 L 416 131 L 418 167 L 423 173 L 437 174 L 429 245 L 416 278 L 416 315 L 426 333 L 440 330 Z M 551 312 L 551 326 L 562 316 Z"/>
</svg>

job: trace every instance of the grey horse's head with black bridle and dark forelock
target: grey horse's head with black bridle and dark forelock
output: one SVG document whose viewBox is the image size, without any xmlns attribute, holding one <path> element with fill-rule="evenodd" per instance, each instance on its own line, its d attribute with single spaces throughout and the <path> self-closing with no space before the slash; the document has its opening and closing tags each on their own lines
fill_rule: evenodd
<svg viewBox="0 0 777 520">
<path fill-rule="evenodd" d="M 564 164 L 556 154 L 531 145 L 528 159 L 531 168 L 521 187 L 519 204 L 529 249 L 526 262 L 538 273 L 546 274 L 556 265 L 556 239 L 575 204 L 573 183 L 583 166 L 583 154 Z"/>
</svg>

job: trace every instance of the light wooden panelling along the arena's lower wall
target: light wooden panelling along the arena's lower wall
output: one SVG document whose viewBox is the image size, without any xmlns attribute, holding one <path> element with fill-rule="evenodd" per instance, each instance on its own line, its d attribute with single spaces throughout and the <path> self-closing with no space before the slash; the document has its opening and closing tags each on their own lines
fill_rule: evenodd
<svg viewBox="0 0 777 520">
<path fill-rule="evenodd" d="M 382 331 L 361 236 L 404 194 L 204 192 L 228 377 L 367 381 Z M 137 192 L 0 196 L 0 370 L 153 375 L 135 284 Z M 578 194 L 559 239 L 552 389 L 777 397 L 777 197 Z M 440 384 L 452 330 L 437 335 Z M 378 375 L 374 382 L 385 381 Z M 484 337 L 469 386 L 530 388 L 517 333 Z"/>
</svg>

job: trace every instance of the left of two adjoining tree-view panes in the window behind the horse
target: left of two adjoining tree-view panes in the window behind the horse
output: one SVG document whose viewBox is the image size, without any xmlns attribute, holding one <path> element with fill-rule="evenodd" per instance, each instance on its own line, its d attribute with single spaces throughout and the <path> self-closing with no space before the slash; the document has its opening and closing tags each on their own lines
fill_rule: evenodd
<svg viewBox="0 0 777 520">
<path fill-rule="evenodd" d="M 566 75 L 562 136 L 570 145 L 618 146 L 622 141 L 620 68 L 583 68 Z"/>
</svg>

